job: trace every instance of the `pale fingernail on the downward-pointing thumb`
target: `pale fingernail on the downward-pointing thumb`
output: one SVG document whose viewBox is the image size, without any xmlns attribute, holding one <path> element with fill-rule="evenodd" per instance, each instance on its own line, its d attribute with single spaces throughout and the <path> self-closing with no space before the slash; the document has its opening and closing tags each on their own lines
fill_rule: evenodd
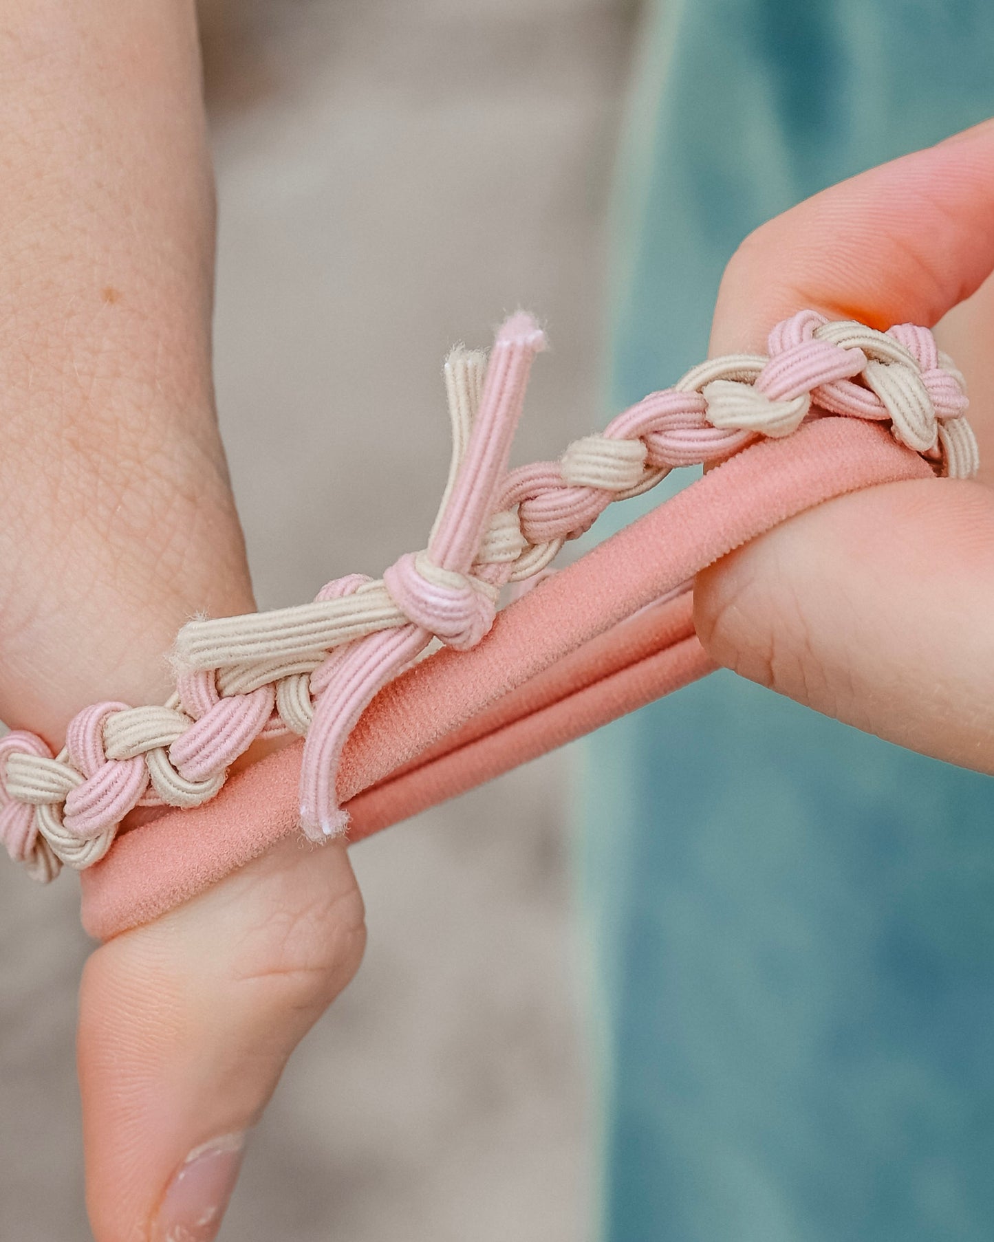
<svg viewBox="0 0 994 1242">
<path fill-rule="evenodd" d="M 245 1134 L 211 1139 L 186 1156 L 155 1220 L 155 1242 L 212 1242 L 239 1180 Z"/>
</svg>

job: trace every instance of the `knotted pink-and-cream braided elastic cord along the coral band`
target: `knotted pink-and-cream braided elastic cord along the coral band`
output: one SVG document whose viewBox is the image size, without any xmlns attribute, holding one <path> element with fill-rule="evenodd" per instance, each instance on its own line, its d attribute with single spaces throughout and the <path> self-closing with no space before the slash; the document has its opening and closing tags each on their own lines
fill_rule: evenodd
<svg viewBox="0 0 994 1242">
<path fill-rule="evenodd" d="M 193 620 L 179 632 L 176 689 L 163 707 L 98 703 L 78 713 L 62 751 L 25 730 L 0 739 L 0 838 L 47 882 L 111 848 L 138 806 L 212 799 L 260 737 L 306 738 L 299 811 L 312 840 L 340 835 L 343 745 L 378 691 L 437 638 L 457 650 L 490 631 L 501 587 L 534 580 L 613 501 L 676 466 L 713 465 L 757 440 L 836 415 L 890 426 L 936 473 L 978 468 L 963 417 L 963 376 L 926 328 L 887 333 L 803 310 L 769 335 L 769 356 L 718 358 L 651 394 L 558 462 L 507 472 L 524 388 L 544 337 L 508 319 L 490 360 L 454 351 L 445 366 L 452 462 L 424 551 L 374 581 L 349 575 L 313 604 Z"/>
</svg>

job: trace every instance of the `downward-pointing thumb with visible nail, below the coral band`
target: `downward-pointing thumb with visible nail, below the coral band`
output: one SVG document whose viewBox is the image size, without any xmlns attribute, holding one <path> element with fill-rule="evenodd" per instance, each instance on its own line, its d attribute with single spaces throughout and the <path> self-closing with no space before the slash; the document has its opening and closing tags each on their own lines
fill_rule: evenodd
<svg viewBox="0 0 994 1242">
<path fill-rule="evenodd" d="M 97 1242 L 209 1242 L 287 1057 L 355 972 L 342 845 L 287 841 L 98 949 L 80 1000 Z"/>
</svg>

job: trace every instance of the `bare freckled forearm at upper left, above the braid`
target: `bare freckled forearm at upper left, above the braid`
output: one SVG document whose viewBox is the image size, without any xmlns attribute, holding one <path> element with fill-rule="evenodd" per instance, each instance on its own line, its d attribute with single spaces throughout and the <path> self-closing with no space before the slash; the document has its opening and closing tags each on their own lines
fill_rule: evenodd
<svg viewBox="0 0 994 1242">
<path fill-rule="evenodd" d="M 0 17 L 0 718 L 168 692 L 251 607 L 212 411 L 214 196 L 190 0 Z"/>
</svg>

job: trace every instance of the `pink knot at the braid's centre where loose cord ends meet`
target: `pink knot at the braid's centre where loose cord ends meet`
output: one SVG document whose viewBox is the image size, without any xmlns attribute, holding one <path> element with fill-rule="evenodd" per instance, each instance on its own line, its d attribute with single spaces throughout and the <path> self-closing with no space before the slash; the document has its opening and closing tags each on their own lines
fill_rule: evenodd
<svg viewBox="0 0 994 1242">
<path fill-rule="evenodd" d="M 414 625 L 457 651 L 475 647 L 493 625 L 496 589 L 471 574 L 441 569 L 425 551 L 401 556 L 383 581 Z"/>
</svg>

